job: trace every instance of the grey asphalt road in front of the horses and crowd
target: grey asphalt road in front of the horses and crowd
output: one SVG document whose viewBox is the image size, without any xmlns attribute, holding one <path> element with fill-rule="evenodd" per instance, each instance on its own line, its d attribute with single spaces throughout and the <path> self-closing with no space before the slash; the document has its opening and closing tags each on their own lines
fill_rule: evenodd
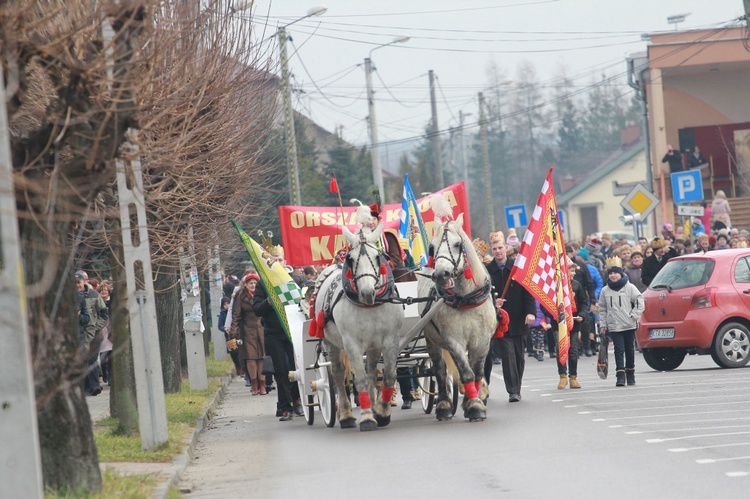
<svg viewBox="0 0 750 499">
<path fill-rule="evenodd" d="M 611 355 L 610 355 L 611 359 Z M 488 418 L 439 422 L 419 403 L 375 432 L 279 422 L 275 393 L 239 379 L 203 433 L 180 485 L 188 497 L 748 497 L 750 368 L 709 356 L 673 372 L 636 358 L 635 387 L 600 380 L 557 390 L 554 361 L 527 359 L 523 400 L 495 366 Z M 356 413 L 355 413 L 356 414 Z"/>
</svg>

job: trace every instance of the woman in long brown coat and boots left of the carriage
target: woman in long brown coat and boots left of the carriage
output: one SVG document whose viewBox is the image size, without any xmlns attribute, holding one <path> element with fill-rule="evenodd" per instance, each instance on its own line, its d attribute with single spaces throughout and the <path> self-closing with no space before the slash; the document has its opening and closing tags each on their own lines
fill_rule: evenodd
<svg viewBox="0 0 750 499">
<path fill-rule="evenodd" d="M 255 273 L 247 274 L 242 279 L 243 286 L 237 292 L 232 308 L 232 333 L 242 340 L 240 364 L 245 366 L 245 372 L 250 376 L 253 395 L 266 394 L 266 378 L 261 374 L 265 355 L 263 326 L 253 310 L 255 286 L 259 280 Z"/>
</svg>

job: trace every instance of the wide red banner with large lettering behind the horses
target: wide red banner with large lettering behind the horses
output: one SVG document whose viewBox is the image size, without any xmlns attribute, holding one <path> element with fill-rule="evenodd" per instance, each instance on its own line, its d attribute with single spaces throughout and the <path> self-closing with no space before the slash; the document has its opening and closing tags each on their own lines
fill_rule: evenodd
<svg viewBox="0 0 750 499">
<path fill-rule="evenodd" d="M 453 184 L 439 191 L 445 193 L 446 199 L 453 208 L 453 217 L 464 214 L 464 231 L 471 237 L 471 221 L 466 203 L 466 185 L 463 182 Z M 433 214 L 429 208 L 429 197 L 419 198 L 419 211 L 425 224 L 427 236 L 432 237 Z M 329 264 L 336 251 L 346 243 L 340 225 L 346 225 L 352 232 L 359 230 L 354 222 L 356 206 L 345 206 L 341 212 L 339 206 L 279 206 L 281 224 L 281 241 L 284 256 L 288 265 Z M 381 217 L 386 230 L 398 234 L 401 203 L 387 204 L 382 208 Z"/>
</svg>

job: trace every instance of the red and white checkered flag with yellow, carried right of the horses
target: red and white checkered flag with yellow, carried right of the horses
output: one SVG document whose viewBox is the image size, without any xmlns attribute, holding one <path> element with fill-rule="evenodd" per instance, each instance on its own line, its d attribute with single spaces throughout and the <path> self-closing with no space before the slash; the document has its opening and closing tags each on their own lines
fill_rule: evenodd
<svg viewBox="0 0 750 499">
<path fill-rule="evenodd" d="M 510 278 L 526 288 L 539 303 L 557 318 L 560 346 L 560 363 L 568 360 L 570 337 L 573 329 L 573 306 L 565 241 L 557 217 L 557 201 L 552 185 L 552 168 L 534 207 L 534 214 L 523 237 L 516 263 Z"/>
</svg>

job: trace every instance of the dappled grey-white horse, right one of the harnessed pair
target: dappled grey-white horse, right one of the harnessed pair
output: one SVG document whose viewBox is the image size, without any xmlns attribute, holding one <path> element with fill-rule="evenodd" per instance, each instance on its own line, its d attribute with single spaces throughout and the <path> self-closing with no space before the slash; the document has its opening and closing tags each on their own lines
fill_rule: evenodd
<svg viewBox="0 0 750 499">
<path fill-rule="evenodd" d="M 439 199 L 442 200 L 442 196 Z M 443 211 L 436 207 L 441 203 L 436 202 L 435 198 L 432 204 L 437 224 L 441 217 L 450 213 L 450 207 L 445 213 L 444 207 Z M 462 227 L 463 214 L 457 220 L 445 221 L 437 227 L 430 243 L 434 262 L 432 280 L 420 277 L 418 286 L 420 297 L 434 295 L 445 298 L 445 305 L 424 328 L 427 351 L 437 378 L 435 414 L 440 421 L 453 417 L 443 349 L 451 354 L 464 387 L 464 417 L 469 421 L 482 421 L 487 417 L 484 400 L 489 390 L 482 383 L 484 362 L 498 324 L 490 293 L 489 273 Z M 422 315 L 427 306 L 420 304 Z"/>
</svg>

